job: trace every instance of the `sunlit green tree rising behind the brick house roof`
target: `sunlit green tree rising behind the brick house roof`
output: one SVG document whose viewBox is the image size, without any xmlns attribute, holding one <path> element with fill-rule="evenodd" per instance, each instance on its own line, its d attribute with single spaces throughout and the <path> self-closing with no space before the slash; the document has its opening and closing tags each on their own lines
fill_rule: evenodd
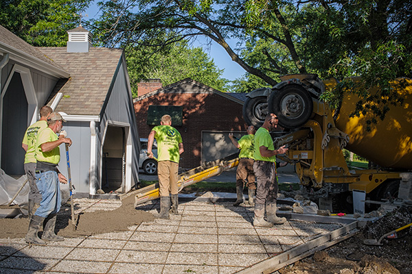
<svg viewBox="0 0 412 274">
<path fill-rule="evenodd" d="M 161 79 L 164 86 L 187 77 L 216 90 L 227 90 L 227 79 L 201 48 L 190 48 L 182 40 L 161 49 L 128 45 L 126 61 L 133 97 L 142 79 Z"/>
</svg>

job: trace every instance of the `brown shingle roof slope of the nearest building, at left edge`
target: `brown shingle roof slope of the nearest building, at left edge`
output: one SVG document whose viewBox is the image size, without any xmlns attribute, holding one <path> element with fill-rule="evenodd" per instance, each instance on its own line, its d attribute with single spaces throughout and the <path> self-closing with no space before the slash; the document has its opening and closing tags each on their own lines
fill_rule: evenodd
<svg viewBox="0 0 412 274">
<path fill-rule="evenodd" d="M 38 58 L 47 64 L 52 64 L 58 69 L 62 69 L 61 66 L 47 58 L 39 49 L 25 42 L 25 40 L 21 39 L 19 36 L 16 36 L 2 25 L 0 25 L 0 42 L 19 51 L 23 51 L 23 53 L 32 55 L 34 58 Z"/>
</svg>

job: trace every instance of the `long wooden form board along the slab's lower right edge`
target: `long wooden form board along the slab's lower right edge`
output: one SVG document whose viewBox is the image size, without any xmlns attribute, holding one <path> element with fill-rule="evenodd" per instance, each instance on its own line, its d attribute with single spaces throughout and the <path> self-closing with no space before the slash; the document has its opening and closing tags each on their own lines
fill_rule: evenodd
<svg viewBox="0 0 412 274">
<path fill-rule="evenodd" d="M 349 235 L 352 236 L 354 234 L 353 231 L 357 227 L 358 227 L 358 221 L 354 221 L 353 223 L 350 223 L 349 225 L 345 225 L 339 229 L 334 230 L 333 232 L 320 236 L 314 240 L 310 240 L 310 242 L 306 242 L 306 244 L 304 245 L 299 245 L 277 256 L 273 256 L 272 258 L 268 258 L 262 262 L 258 262 L 257 264 L 249 266 L 247 269 L 242 269 L 241 271 L 237 273 L 242 273 L 242 274 L 271 273 L 273 271 L 276 271 L 277 269 L 281 269 L 282 267 L 288 264 L 292 264 L 293 262 L 296 262 L 297 260 L 301 260 L 301 258 L 306 258 L 307 256 L 310 256 L 315 251 L 325 249 L 326 247 L 335 245 L 337 242 L 340 242 L 341 240 L 345 240 L 346 236 L 349 236 Z M 321 247 L 322 249 L 319 249 Z M 282 267 L 277 268 L 277 266 L 280 266 L 280 265 L 282 265 Z M 267 272 L 267 271 L 271 271 L 271 272 Z"/>
</svg>

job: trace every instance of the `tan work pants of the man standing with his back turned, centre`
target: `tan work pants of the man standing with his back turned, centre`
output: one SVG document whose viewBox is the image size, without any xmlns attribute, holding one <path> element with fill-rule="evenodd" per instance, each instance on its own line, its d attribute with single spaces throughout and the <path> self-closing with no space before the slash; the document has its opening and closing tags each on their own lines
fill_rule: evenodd
<svg viewBox="0 0 412 274">
<path fill-rule="evenodd" d="M 169 196 L 177 194 L 177 173 L 179 164 L 172 161 L 160 161 L 157 163 L 157 175 L 159 177 L 159 195 Z"/>
</svg>

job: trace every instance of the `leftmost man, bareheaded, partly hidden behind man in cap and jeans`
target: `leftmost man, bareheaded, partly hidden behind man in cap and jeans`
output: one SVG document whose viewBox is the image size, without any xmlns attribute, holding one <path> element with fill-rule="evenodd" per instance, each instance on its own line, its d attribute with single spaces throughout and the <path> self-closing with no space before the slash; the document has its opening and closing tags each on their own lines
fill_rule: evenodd
<svg viewBox="0 0 412 274">
<path fill-rule="evenodd" d="M 41 194 L 38 192 L 38 188 L 36 186 L 36 158 L 34 157 L 37 136 L 38 132 L 41 132 L 41 130 L 47 127 L 47 116 L 49 116 L 52 112 L 52 108 L 44 105 L 40 109 L 40 120 L 27 128 L 23 137 L 23 142 L 21 142 L 21 147 L 23 147 L 26 151 L 24 157 L 24 171 L 27 175 L 27 180 L 30 186 L 28 204 L 29 219 L 32 218 L 33 212 L 37 210 L 38 206 L 40 206 L 41 201 Z"/>
</svg>

